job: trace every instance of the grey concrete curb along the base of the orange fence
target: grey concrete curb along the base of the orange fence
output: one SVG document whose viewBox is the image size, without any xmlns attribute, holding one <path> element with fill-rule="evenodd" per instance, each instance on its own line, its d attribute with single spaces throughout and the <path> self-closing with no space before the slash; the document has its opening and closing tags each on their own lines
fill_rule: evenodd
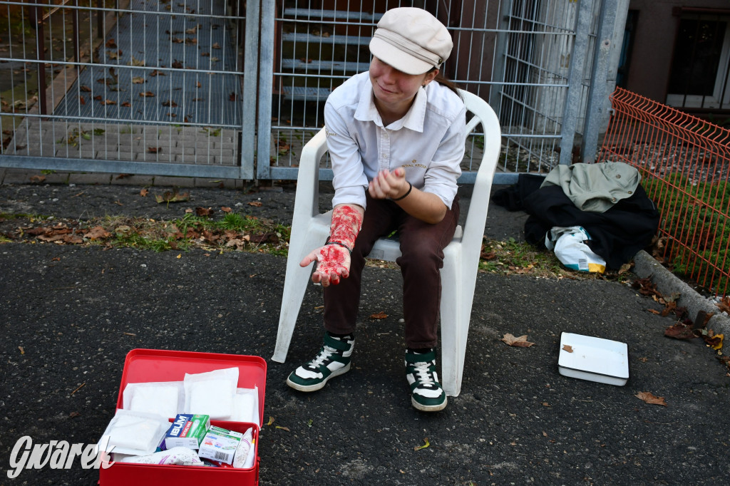
<svg viewBox="0 0 730 486">
<path fill-rule="evenodd" d="M 677 305 L 686 307 L 691 319 L 694 319 L 699 311 L 714 314 L 710 317 L 707 328 L 712 329 L 716 334 L 723 333 L 730 339 L 730 317 L 722 315 L 718 306 L 700 296 L 696 290 L 664 268 L 661 263 L 644 250 L 639 251 L 634 256 L 634 274 L 642 279 L 651 278 L 659 292 L 666 296 L 679 293 L 680 298 Z"/>
</svg>

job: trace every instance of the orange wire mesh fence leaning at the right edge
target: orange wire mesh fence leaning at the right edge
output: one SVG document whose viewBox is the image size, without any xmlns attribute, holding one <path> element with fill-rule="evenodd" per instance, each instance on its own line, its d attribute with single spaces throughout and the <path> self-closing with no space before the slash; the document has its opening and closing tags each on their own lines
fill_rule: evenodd
<svg viewBox="0 0 730 486">
<path fill-rule="evenodd" d="M 712 293 L 730 288 L 730 131 L 622 88 L 598 162 L 625 162 L 661 212 L 660 258 Z"/>
</svg>

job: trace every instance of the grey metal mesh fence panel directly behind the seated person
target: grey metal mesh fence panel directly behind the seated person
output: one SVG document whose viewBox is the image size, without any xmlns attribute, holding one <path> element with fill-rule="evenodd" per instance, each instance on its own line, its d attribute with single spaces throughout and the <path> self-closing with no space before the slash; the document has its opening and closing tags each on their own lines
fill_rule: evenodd
<svg viewBox="0 0 730 486">
<path fill-rule="evenodd" d="M 369 68 L 369 39 L 382 13 L 393 7 L 428 9 L 453 34 L 452 55 L 442 72 L 487 99 L 502 122 L 496 180 L 507 180 L 500 172 L 550 171 L 561 160 L 561 143 L 568 137 L 566 146 L 572 150 L 575 133 L 583 127 L 592 62 L 588 51 L 595 44 L 600 2 L 583 4 L 587 13 L 579 19 L 580 2 L 553 0 L 283 2 L 275 18 L 273 172 L 293 177 L 283 169 L 296 168 L 301 146 L 323 126 L 323 104 L 331 90 Z M 585 33 L 583 61 L 571 80 L 577 28 Z M 578 94 L 570 109 L 577 115 L 566 133 L 571 82 Z M 481 138 L 475 134 L 469 141 L 462 181 L 478 169 Z M 328 162 L 322 167 L 327 169 Z"/>
</svg>

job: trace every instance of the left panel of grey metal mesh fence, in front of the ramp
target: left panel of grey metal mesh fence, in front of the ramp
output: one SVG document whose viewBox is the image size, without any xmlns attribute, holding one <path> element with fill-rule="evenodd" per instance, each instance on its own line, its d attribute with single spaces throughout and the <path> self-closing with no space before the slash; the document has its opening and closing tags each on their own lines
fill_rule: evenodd
<svg viewBox="0 0 730 486">
<path fill-rule="evenodd" d="M 0 1 L 0 9 L 3 155 L 93 171 L 120 167 L 108 161 L 158 174 L 198 166 L 201 176 L 239 166 L 237 2 Z"/>
</svg>

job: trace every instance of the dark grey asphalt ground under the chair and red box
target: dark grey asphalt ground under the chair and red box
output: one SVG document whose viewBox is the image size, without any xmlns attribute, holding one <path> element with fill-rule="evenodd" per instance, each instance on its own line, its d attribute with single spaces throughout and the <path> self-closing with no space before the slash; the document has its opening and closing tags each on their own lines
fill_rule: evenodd
<svg viewBox="0 0 730 486">
<path fill-rule="evenodd" d="M 139 190 L 5 184 L 0 212 L 162 219 L 227 206 L 291 223 L 291 186 L 189 188 L 191 201 L 169 205 Z M 323 188 L 323 207 L 329 196 Z M 493 205 L 485 234 L 520 239 L 525 218 Z M 461 395 L 425 414 L 410 405 L 404 377 L 400 272 L 366 269 L 353 369 L 311 394 L 285 378 L 320 346 L 320 288 L 307 288 L 287 363 L 269 359 L 284 272 L 285 258 L 247 252 L 1 244 L 4 470 L 21 436 L 98 441 L 126 354 L 151 348 L 266 358 L 264 423 L 273 422 L 258 446 L 261 485 L 715 485 L 730 477 L 727 367 L 699 339 L 664 337 L 675 319 L 651 312 L 663 306 L 626 283 L 479 274 Z M 388 317 L 369 318 L 377 312 Z M 561 376 L 562 332 L 626 342 L 626 385 Z M 535 344 L 507 346 L 505 333 Z M 646 404 L 639 392 L 666 406 Z M 0 476 L 1 485 L 97 480 L 79 461 Z"/>
</svg>

